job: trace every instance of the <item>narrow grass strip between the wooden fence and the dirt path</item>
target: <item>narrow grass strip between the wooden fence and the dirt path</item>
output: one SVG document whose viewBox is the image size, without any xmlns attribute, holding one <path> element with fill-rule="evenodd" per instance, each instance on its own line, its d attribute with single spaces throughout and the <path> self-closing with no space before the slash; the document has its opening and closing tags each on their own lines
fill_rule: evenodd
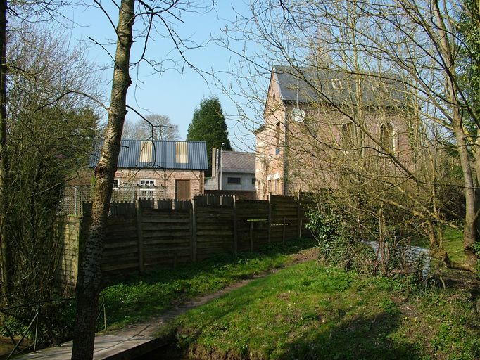
<svg viewBox="0 0 480 360">
<path fill-rule="evenodd" d="M 222 255 L 177 269 L 150 271 L 124 278 L 103 289 L 108 330 L 149 319 L 177 302 L 214 293 L 227 285 L 293 262 L 289 254 L 311 248 L 311 239 L 272 244 L 259 252 Z M 100 319 L 103 321 L 103 319 Z"/>
</svg>

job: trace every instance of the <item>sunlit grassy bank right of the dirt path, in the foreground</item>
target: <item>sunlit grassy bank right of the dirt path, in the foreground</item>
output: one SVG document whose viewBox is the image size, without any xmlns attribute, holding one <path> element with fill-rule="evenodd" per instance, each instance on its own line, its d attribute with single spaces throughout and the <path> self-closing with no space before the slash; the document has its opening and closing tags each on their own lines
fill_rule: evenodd
<svg viewBox="0 0 480 360">
<path fill-rule="evenodd" d="M 307 262 L 260 278 L 172 324 L 193 359 L 480 359 L 469 293 Z"/>
</svg>

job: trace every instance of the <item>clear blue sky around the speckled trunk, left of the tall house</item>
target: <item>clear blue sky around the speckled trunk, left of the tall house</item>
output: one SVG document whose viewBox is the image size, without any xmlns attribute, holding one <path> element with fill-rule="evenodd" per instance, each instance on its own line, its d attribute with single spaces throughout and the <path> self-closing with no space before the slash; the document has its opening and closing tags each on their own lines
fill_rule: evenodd
<svg viewBox="0 0 480 360">
<path fill-rule="evenodd" d="M 205 1 L 208 3 L 208 1 Z M 107 6 L 107 11 L 116 25 L 118 11 L 111 5 L 112 1 L 103 1 L 102 5 Z M 204 46 L 199 49 L 189 49 L 185 56 L 196 67 L 207 72 L 214 70 L 218 74 L 220 84 L 229 87 L 228 69 L 238 66 L 238 58 L 227 49 L 215 44 L 214 41 L 208 41 L 212 37 L 221 37 L 222 29 L 232 27 L 232 21 L 235 20 L 236 11 L 248 13 L 248 6 L 242 1 L 234 1 L 235 9 L 232 9 L 232 1 L 219 0 L 214 11 L 208 13 L 182 13 L 184 24 L 178 24 L 176 30 L 184 39 L 191 39 L 197 44 Z M 68 15 L 75 21 L 72 29 L 72 39 L 74 41 L 87 41 L 89 43 L 89 58 L 94 61 L 96 67 L 102 65 L 111 66 L 111 59 L 108 54 L 98 44 L 89 41 L 91 37 L 95 41 L 104 44 L 110 53 L 114 52 L 114 46 L 108 46 L 108 40 L 115 39 L 113 27 L 108 22 L 106 15 L 99 8 L 75 8 Z M 137 23 L 137 31 L 141 29 L 141 24 Z M 160 27 L 159 27 L 160 29 Z M 239 42 L 235 46 L 256 46 L 254 44 L 242 44 Z M 138 59 L 143 46 L 141 41 L 134 44 L 132 51 L 132 60 Z M 173 50 L 174 44 L 170 37 L 161 38 L 156 35 L 153 41 L 147 47 L 146 58 L 150 60 L 167 60 L 167 65 L 172 65 L 172 60 L 182 63 L 177 51 Z M 248 51 L 250 51 L 248 49 Z M 106 98 L 110 93 L 111 68 L 103 70 L 101 77 L 103 79 L 103 93 Z M 236 102 L 229 96 L 222 93 L 217 88 L 213 78 L 206 75 L 205 79 L 198 75 L 196 71 L 185 66 L 182 69 L 170 69 L 159 73 L 154 71 L 151 66 L 142 63 L 138 68 L 131 71 L 134 84 L 128 92 L 128 103 L 142 115 L 153 113 L 168 115 L 173 123 L 179 126 L 179 132 L 182 139 L 187 134 L 187 128 L 191 122 L 195 108 L 203 96 L 217 95 L 227 118 L 229 137 L 234 148 L 239 150 L 248 150 L 248 146 L 253 146 L 253 136 L 245 137 L 246 130 L 238 121 Z M 235 86 L 232 83 L 232 86 Z M 235 91 L 236 89 L 234 89 Z M 260 95 L 261 96 L 261 95 Z M 245 99 L 236 97 L 236 101 L 244 102 Z M 247 112 L 247 115 L 255 117 L 253 113 Z M 132 111 L 127 114 L 128 120 L 138 121 L 139 116 Z M 256 121 L 259 121 L 256 119 Z M 250 149 L 251 150 L 251 149 Z"/>
</svg>

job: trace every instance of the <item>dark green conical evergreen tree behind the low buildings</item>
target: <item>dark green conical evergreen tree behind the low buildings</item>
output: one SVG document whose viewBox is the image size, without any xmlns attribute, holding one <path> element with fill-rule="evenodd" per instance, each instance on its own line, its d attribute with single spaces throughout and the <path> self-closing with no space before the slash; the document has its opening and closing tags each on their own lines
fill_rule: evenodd
<svg viewBox="0 0 480 360">
<path fill-rule="evenodd" d="M 228 139 L 227 123 L 223 116 L 222 105 L 217 96 L 203 98 L 200 106 L 196 108 L 194 117 L 189 124 L 187 140 L 206 141 L 208 155 L 208 173 L 212 171 L 212 148 L 232 151 Z"/>
</svg>

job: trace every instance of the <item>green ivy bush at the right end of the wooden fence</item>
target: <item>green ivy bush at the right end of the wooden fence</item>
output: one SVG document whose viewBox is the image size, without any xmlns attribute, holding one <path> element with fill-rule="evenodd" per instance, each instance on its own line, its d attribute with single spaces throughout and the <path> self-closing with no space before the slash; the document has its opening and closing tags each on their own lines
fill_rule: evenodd
<svg viewBox="0 0 480 360">
<path fill-rule="evenodd" d="M 318 241 L 320 257 L 324 262 L 342 269 L 357 269 L 370 273 L 374 270 L 374 253 L 348 233 L 348 226 L 334 212 L 310 210 L 305 226 Z"/>
</svg>

